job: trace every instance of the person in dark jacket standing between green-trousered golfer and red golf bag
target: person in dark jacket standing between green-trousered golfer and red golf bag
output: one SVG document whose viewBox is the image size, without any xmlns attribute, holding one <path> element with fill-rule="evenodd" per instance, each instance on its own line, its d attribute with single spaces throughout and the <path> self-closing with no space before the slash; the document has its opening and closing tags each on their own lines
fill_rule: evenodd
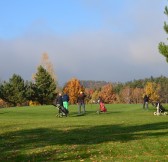
<svg viewBox="0 0 168 162">
<path fill-rule="evenodd" d="M 81 107 L 83 109 L 83 114 L 85 114 L 85 97 L 86 95 L 81 91 L 78 98 L 77 98 L 77 103 L 78 103 L 78 114 L 81 114 Z"/>
</svg>

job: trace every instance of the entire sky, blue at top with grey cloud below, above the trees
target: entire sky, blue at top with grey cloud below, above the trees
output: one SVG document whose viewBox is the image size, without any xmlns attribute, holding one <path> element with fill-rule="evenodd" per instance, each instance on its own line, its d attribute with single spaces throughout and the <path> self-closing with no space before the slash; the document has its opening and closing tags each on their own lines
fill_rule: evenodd
<svg viewBox="0 0 168 162">
<path fill-rule="evenodd" d="M 0 80 L 26 80 L 47 52 L 60 84 L 168 75 L 166 0 L 1 0 Z"/>
</svg>

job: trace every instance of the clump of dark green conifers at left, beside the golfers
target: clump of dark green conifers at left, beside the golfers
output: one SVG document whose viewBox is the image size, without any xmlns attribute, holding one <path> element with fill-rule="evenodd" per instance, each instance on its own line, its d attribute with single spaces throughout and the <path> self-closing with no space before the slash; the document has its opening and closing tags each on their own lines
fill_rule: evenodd
<svg viewBox="0 0 168 162">
<path fill-rule="evenodd" d="M 39 66 L 33 81 L 24 81 L 17 74 L 0 84 L 1 106 L 29 105 L 29 102 L 51 104 L 56 90 L 56 82 L 49 72 Z"/>
</svg>

